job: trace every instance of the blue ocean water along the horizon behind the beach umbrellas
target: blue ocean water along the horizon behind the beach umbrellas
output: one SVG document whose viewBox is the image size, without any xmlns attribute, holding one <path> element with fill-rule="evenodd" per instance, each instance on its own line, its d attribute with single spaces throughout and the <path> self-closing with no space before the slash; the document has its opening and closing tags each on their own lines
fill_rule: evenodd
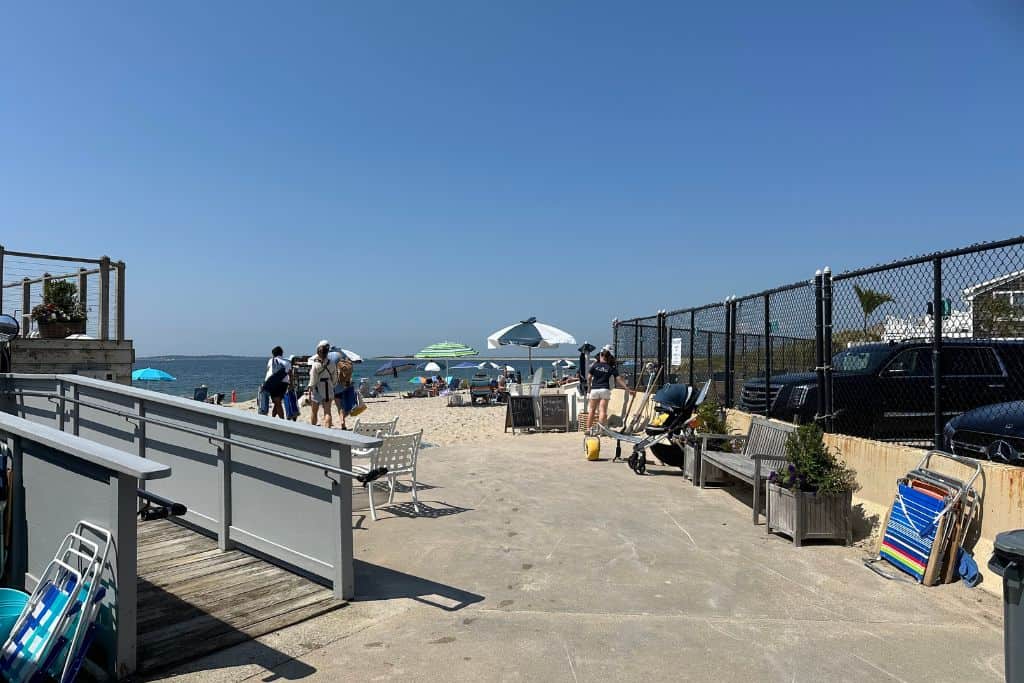
<svg viewBox="0 0 1024 683">
<path fill-rule="evenodd" d="M 567 356 L 566 356 L 567 357 Z M 551 361 L 553 357 L 545 358 L 534 358 L 534 370 L 539 368 L 544 368 L 544 377 L 550 379 L 552 376 L 552 366 Z M 572 358 L 569 358 L 570 360 Z M 180 358 L 170 358 L 166 356 L 161 356 L 158 358 L 137 358 L 135 361 L 135 369 L 139 368 L 157 368 L 163 370 L 166 373 L 170 373 L 174 376 L 174 382 L 133 382 L 132 385 L 148 389 L 151 391 L 160 391 L 162 393 L 169 393 L 175 396 L 187 396 L 191 397 L 193 390 L 205 384 L 210 388 L 210 393 L 223 392 L 228 398 L 230 398 L 231 390 L 233 389 L 238 393 L 239 400 L 249 400 L 255 398 L 256 394 L 259 392 L 259 386 L 263 383 L 263 376 L 266 374 L 266 358 L 241 358 L 241 357 L 228 357 L 228 358 L 207 358 L 207 357 L 180 357 Z M 414 385 L 410 384 L 409 380 L 414 377 L 419 377 L 427 375 L 421 370 L 407 370 L 404 372 L 398 373 L 398 378 L 394 379 L 390 374 L 386 377 L 375 377 L 374 373 L 383 364 L 387 362 L 388 358 L 367 358 L 362 362 L 355 364 L 353 369 L 352 377 L 353 381 L 358 384 L 359 379 L 364 377 L 370 378 L 371 383 L 376 383 L 378 379 L 383 379 L 386 381 L 392 391 L 408 391 Z M 450 360 L 450 366 L 457 366 L 463 361 L 480 361 L 482 358 L 459 358 Z M 493 359 L 486 358 L 486 360 L 497 362 L 501 366 L 512 366 L 520 373 L 523 377 L 526 377 L 529 373 L 529 364 L 526 358 L 515 358 L 515 359 Z M 426 362 L 426 361 L 420 361 Z M 440 375 L 444 375 L 444 361 L 436 361 L 441 367 Z M 470 378 L 473 373 L 477 372 L 475 369 L 467 370 L 452 370 L 449 374 L 455 377 Z M 498 376 L 499 371 L 494 369 L 486 369 L 483 372 L 488 375 Z M 559 374 L 573 374 L 575 369 L 559 370 Z M 438 374 L 438 373 L 432 373 Z"/>
</svg>

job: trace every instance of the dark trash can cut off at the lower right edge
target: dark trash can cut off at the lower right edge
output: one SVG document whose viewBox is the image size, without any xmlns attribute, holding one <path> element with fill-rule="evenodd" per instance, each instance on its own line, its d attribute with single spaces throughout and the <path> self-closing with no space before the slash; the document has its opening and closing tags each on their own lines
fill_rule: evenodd
<svg viewBox="0 0 1024 683">
<path fill-rule="evenodd" d="M 1002 577 L 1002 652 L 1007 683 L 1024 683 L 1024 529 L 995 537 L 988 568 Z"/>
</svg>

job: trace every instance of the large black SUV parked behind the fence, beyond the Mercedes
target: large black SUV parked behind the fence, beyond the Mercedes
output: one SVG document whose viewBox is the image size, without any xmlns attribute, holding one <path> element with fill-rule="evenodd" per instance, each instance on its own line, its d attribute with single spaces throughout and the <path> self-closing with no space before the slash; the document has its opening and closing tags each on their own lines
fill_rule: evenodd
<svg viewBox="0 0 1024 683">
<path fill-rule="evenodd" d="M 836 430 L 883 440 L 934 435 L 932 345 L 928 340 L 873 342 L 833 358 Z M 772 416 L 805 423 L 817 409 L 814 373 L 771 379 Z M 942 341 L 943 421 L 979 405 L 1024 398 L 1024 342 Z M 739 408 L 764 413 L 764 378 L 743 384 Z"/>
</svg>

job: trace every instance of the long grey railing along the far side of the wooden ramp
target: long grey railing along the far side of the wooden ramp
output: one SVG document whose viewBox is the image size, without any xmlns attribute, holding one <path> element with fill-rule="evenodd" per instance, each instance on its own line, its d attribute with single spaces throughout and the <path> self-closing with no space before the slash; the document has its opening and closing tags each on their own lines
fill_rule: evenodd
<svg viewBox="0 0 1024 683">
<path fill-rule="evenodd" d="M 350 468 L 350 446 L 380 439 L 71 375 L 7 375 L 0 388 L 35 420 L 173 468 L 146 488 L 185 504 L 222 549 L 252 548 L 352 595 L 351 482 L 336 470 Z"/>
</svg>

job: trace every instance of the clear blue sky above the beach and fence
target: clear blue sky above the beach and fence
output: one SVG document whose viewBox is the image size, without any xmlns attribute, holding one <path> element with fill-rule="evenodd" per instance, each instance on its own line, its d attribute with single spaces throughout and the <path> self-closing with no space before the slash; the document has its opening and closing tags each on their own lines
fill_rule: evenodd
<svg viewBox="0 0 1024 683">
<path fill-rule="evenodd" d="M 601 343 L 1020 233 L 1019 6 L 8 5 L 0 243 L 125 260 L 142 354 Z"/>
</svg>

